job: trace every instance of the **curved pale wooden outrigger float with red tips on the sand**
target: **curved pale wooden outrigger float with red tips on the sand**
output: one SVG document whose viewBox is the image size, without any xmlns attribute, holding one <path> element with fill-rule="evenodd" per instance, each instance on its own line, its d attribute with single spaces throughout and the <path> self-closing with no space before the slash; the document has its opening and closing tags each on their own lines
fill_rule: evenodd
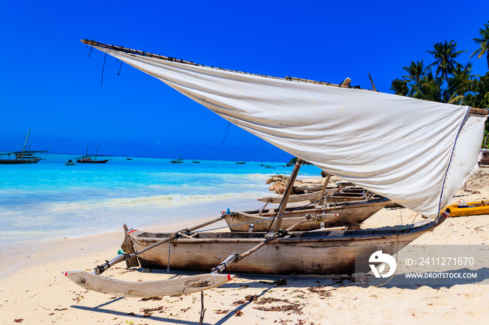
<svg viewBox="0 0 489 325">
<path fill-rule="evenodd" d="M 81 287 L 124 297 L 173 296 L 200 292 L 223 285 L 235 278 L 233 274 L 199 274 L 168 280 L 130 282 L 95 275 L 87 271 L 68 271 L 66 277 Z"/>
</svg>

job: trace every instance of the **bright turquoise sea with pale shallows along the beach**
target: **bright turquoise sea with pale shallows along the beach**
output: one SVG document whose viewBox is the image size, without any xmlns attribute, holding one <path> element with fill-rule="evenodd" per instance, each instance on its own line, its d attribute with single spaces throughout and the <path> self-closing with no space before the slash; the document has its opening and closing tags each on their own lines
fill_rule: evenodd
<svg viewBox="0 0 489 325">
<path fill-rule="evenodd" d="M 36 164 L 0 165 L 0 247 L 120 231 L 124 224 L 138 229 L 184 224 L 216 218 L 228 208 L 256 209 L 258 197 L 273 194 L 265 181 L 293 168 L 284 162 L 173 164 L 139 157 L 64 164 L 75 156 L 50 153 Z M 319 173 L 306 165 L 299 175 Z"/>
</svg>

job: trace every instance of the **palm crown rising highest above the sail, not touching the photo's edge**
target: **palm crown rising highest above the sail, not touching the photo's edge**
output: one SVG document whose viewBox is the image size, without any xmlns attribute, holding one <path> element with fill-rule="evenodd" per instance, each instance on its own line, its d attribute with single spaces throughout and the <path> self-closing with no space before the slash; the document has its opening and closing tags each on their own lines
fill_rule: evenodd
<svg viewBox="0 0 489 325">
<path fill-rule="evenodd" d="M 435 56 L 435 62 L 431 63 L 430 66 L 437 66 L 437 71 L 435 76 L 437 77 L 441 74 L 445 81 L 448 83 L 448 74 L 451 74 L 460 63 L 455 61 L 455 59 L 462 54 L 462 52 L 467 51 L 457 51 L 457 42 L 451 40 L 450 43 L 435 43 L 433 44 L 434 51 L 426 51 L 433 56 Z"/>
</svg>

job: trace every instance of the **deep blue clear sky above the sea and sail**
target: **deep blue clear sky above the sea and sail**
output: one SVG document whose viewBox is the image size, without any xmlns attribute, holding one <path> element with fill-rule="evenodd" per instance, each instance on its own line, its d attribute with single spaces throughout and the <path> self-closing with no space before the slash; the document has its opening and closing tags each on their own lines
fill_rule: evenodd
<svg viewBox="0 0 489 325">
<path fill-rule="evenodd" d="M 291 156 L 231 126 L 159 80 L 82 38 L 206 66 L 391 92 L 410 61 L 446 40 L 467 50 L 489 1 L 3 1 L 0 150 L 284 161 Z M 472 59 L 474 73 L 486 59 Z"/>
</svg>

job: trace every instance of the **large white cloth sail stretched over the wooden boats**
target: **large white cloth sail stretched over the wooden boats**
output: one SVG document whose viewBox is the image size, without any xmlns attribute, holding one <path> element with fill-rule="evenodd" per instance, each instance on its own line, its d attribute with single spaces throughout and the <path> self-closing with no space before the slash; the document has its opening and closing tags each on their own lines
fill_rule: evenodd
<svg viewBox="0 0 489 325">
<path fill-rule="evenodd" d="M 94 46 L 326 172 L 437 216 L 476 165 L 467 106 L 291 82 Z"/>
</svg>

